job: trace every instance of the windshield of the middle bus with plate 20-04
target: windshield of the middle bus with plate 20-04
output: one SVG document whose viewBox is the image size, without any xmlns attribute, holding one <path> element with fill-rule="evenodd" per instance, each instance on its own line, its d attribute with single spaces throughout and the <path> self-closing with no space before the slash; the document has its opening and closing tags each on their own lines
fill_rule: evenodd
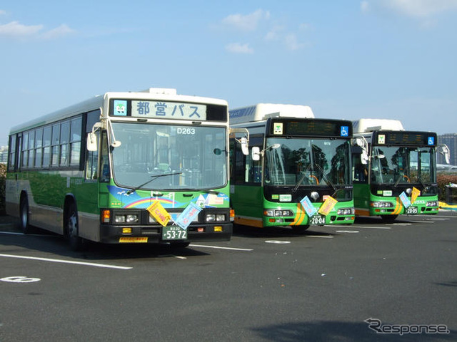
<svg viewBox="0 0 457 342">
<path fill-rule="evenodd" d="M 281 146 L 274 148 L 275 144 Z M 265 184 L 293 187 L 351 184 L 350 147 L 348 140 L 269 138 L 265 150 Z"/>
</svg>

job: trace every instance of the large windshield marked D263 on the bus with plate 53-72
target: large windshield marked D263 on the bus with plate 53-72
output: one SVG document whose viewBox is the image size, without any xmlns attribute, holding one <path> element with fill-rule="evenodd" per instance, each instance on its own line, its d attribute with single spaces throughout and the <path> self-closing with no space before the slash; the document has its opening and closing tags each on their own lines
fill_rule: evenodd
<svg viewBox="0 0 457 342">
<path fill-rule="evenodd" d="M 114 181 L 147 190 L 202 190 L 227 182 L 226 130 L 219 127 L 113 123 Z"/>
</svg>

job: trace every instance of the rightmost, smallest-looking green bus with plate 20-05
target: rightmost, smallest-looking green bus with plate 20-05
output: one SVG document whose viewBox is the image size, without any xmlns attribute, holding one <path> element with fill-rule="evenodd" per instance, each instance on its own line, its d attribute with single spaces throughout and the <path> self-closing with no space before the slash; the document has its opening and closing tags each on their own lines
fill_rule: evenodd
<svg viewBox="0 0 457 342">
<path fill-rule="evenodd" d="M 436 214 L 436 133 L 388 119 L 357 120 L 353 129 L 356 216 L 393 222 L 399 214 Z"/>
</svg>

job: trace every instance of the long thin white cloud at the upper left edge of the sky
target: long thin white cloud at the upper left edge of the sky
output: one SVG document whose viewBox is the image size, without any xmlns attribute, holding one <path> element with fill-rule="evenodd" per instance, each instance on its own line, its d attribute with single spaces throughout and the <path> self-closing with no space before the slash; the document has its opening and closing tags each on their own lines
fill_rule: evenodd
<svg viewBox="0 0 457 342">
<path fill-rule="evenodd" d="M 0 37 L 54 39 L 74 32 L 64 24 L 49 31 L 43 31 L 43 28 L 43 25 L 24 25 L 19 21 L 11 21 L 8 24 L 0 25 Z"/>
</svg>

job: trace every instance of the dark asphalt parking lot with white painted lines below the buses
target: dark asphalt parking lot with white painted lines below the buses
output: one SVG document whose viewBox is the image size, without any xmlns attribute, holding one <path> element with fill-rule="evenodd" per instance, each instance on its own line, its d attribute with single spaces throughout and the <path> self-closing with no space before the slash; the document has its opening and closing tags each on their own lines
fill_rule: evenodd
<svg viewBox="0 0 457 342">
<path fill-rule="evenodd" d="M 456 341 L 456 223 L 446 211 L 70 252 L 0 221 L 0 341 Z"/>
</svg>

